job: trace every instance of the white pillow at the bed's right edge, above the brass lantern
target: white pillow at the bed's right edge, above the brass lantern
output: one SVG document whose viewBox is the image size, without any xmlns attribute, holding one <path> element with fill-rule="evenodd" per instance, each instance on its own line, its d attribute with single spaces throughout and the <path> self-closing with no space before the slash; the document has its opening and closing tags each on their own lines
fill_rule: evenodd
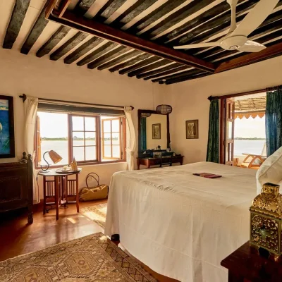
<svg viewBox="0 0 282 282">
<path fill-rule="evenodd" d="M 257 171 L 257 195 L 262 190 L 264 183 L 280 184 L 282 180 L 282 147 L 271 154 Z"/>
</svg>

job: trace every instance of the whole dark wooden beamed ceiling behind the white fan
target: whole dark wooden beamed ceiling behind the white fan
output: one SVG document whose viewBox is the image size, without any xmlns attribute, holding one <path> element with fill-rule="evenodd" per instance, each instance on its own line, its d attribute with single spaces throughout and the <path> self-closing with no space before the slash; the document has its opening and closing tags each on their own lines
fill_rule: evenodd
<svg viewBox="0 0 282 282">
<path fill-rule="evenodd" d="M 28 54 L 32 49 L 33 54 L 32 47 L 37 46 L 38 57 L 49 54 L 54 61 L 118 71 L 160 84 L 202 78 L 282 55 L 282 0 L 249 36 L 267 47 L 256 54 L 220 47 L 173 49 L 179 44 L 214 41 L 226 34 L 231 22 L 230 6 L 225 0 L 158 1 L 135 0 L 130 4 L 129 0 L 48 0 L 30 26 L 20 51 Z M 237 23 L 258 1 L 238 1 Z M 29 8 L 30 1 L 15 0 L 4 48 L 13 47 Z M 56 22 L 52 33 L 45 32 L 50 30 L 45 29 L 45 14 Z M 40 40 L 42 44 L 35 44 Z"/>
</svg>

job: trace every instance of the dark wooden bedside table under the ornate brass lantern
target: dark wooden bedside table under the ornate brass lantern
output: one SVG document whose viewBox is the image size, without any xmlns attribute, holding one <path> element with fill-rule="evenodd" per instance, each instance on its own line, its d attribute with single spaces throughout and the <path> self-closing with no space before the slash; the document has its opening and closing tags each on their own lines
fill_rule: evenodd
<svg viewBox="0 0 282 282">
<path fill-rule="evenodd" d="M 228 269 L 228 282 L 280 282 L 282 281 L 282 257 L 262 257 L 250 247 L 249 241 L 222 260 Z"/>
</svg>

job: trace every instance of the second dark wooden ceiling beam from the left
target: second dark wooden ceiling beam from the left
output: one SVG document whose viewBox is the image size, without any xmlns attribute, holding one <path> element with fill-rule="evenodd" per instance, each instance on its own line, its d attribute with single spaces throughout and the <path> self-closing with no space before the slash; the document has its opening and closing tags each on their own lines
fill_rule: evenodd
<svg viewBox="0 0 282 282">
<path fill-rule="evenodd" d="M 47 7 L 48 1 L 42 8 L 42 11 L 39 13 L 35 24 L 32 26 L 25 42 L 23 43 L 22 48 L 20 49 L 20 53 L 27 55 L 32 49 L 32 46 L 35 44 L 38 37 L 42 34 L 44 28 L 46 27 L 48 20 L 45 19 L 45 9 Z"/>
</svg>

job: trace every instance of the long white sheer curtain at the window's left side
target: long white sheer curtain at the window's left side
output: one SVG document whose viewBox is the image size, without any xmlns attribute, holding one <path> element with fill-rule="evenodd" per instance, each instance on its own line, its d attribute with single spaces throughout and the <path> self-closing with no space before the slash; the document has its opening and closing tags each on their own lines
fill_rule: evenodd
<svg viewBox="0 0 282 282">
<path fill-rule="evenodd" d="M 27 96 L 23 103 L 25 114 L 25 128 L 23 131 L 24 150 L 27 154 L 32 155 L 33 166 L 33 203 L 39 203 L 39 190 L 36 181 L 35 172 L 35 122 L 38 106 L 38 98 Z"/>
</svg>

